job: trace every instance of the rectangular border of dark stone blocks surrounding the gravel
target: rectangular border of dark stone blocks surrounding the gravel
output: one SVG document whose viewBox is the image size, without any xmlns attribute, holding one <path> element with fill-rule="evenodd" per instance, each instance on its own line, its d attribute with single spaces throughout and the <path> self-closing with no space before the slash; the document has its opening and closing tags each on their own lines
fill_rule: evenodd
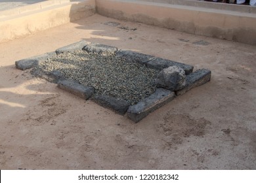
<svg viewBox="0 0 256 183">
<path fill-rule="evenodd" d="M 96 95 L 94 96 L 95 90 L 91 86 L 83 86 L 75 81 L 66 80 L 61 73 L 58 71 L 43 71 L 35 69 L 45 59 L 56 56 L 56 54 L 61 54 L 64 52 L 72 52 L 74 50 L 85 50 L 87 52 L 96 52 L 97 54 L 116 54 L 116 57 L 126 58 L 127 61 L 137 62 L 146 67 L 157 69 L 161 71 L 168 67 L 177 66 L 184 69 L 186 74 L 186 84 L 184 88 L 178 91 L 171 91 L 165 88 L 158 88 L 155 93 L 152 93 L 149 97 L 142 99 L 136 105 L 131 105 L 129 102 L 116 99 L 108 95 Z M 81 97 L 82 99 L 92 99 L 98 105 L 102 107 L 110 108 L 114 110 L 117 114 L 124 115 L 127 113 L 128 118 L 134 122 L 139 122 L 144 117 L 148 116 L 150 112 L 160 108 L 169 101 L 173 100 L 175 97 L 182 95 L 188 90 L 205 84 L 211 80 L 211 71 L 207 69 L 200 69 L 193 73 L 194 67 L 192 65 L 187 65 L 184 63 L 179 63 L 176 61 L 171 61 L 169 59 L 156 58 L 154 56 L 141 54 L 133 52 L 130 50 L 118 50 L 114 46 L 108 46 L 105 44 L 97 44 L 87 41 L 79 41 L 62 48 L 58 48 L 55 52 L 49 52 L 42 54 L 40 56 L 35 56 L 28 59 L 21 59 L 15 62 L 16 68 L 22 71 L 26 69 L 32 69 L 32 75 L 39 76 L 50 82 L 58 84 L 58 88 L 66 90 L 74 95 Z"/>
</svg>

